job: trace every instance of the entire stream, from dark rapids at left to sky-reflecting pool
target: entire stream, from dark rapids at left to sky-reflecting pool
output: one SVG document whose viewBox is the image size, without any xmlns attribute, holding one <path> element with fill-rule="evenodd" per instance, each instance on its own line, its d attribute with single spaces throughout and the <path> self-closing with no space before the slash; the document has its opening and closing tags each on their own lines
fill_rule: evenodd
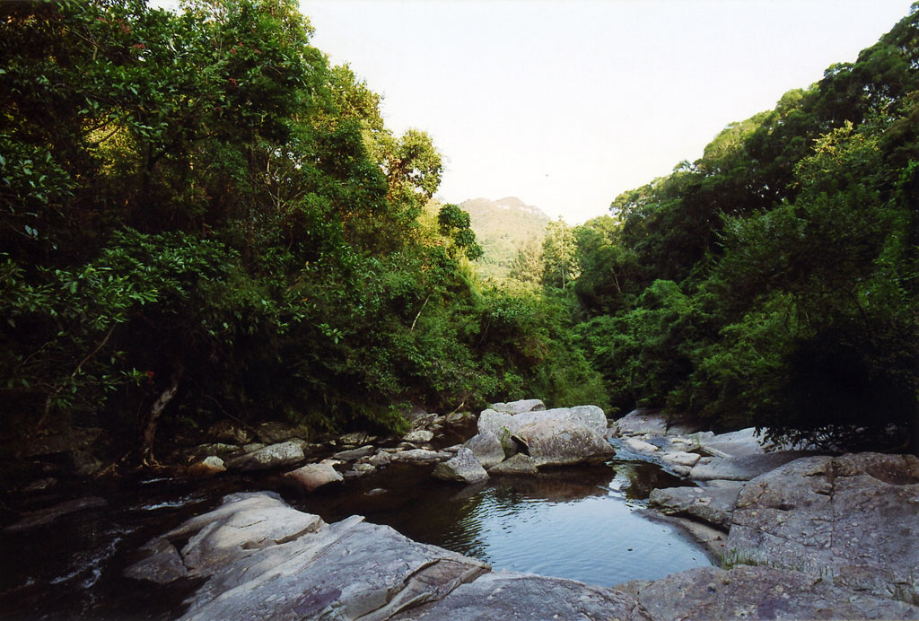
<svg viewBox="0 0 919 621">
<path fill-rule="evenodd" d="M 309 495 L 262 475 L 120 480 L 37 496 L 36 506 L 86 496 L 107 504 L 22 532 L 0 531 L 0 619 L 181 615 L 182 600 L 198 583 L 160 587 L 121 572 L 150 538 L 210 511 L 233 491 L 278 491 L 292 506 L 326 522 L 361 514 L 417 541 L 482 559 L 495 570 L 612 586 L 711 564 L 702 548 L 645 510 L 652 489 L 681 484 L 653 464 L 614 459 L 469 487 L 432 479 L 432 468 L 393 465 Z"/>
</svg>

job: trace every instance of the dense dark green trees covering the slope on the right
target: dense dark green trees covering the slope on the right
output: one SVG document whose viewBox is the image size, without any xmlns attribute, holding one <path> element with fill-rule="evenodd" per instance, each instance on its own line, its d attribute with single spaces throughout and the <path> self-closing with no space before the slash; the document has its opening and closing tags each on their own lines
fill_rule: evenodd
<svg viewBox="0 0 919 621">
<path fill-rule="evenodd" d="M 574 231 L 573 291 L 615 405 L 828 446 L 915 434 L 919 4 L 612 211 Z"/>
</svg>

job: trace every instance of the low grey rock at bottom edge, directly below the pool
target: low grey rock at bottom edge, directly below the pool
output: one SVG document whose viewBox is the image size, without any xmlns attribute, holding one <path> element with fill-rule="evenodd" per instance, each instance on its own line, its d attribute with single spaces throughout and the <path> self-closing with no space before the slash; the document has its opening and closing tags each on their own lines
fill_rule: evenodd
<svg viewBox="0 0 919 621">
<path fill-rule="evenodd" d="M 652 621 L 627 593 L 561 578 L 504 571 L 485 574 L 476 581 L 459 585 L 440 601 L 391 618 L 392 621 Z"/>
</svg>

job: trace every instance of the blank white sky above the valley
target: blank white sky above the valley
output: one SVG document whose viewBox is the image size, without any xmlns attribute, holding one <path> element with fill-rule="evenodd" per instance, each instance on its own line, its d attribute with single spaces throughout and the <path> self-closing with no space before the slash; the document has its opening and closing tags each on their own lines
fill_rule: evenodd
<svg viewBox="0 0 919 621">
<path fill-rule="evenodd" d="M 852 62 L 910 0 L 301 0 L 313 44 L 445 158 L 438 198 L 569 224 Z"/>
</svg>

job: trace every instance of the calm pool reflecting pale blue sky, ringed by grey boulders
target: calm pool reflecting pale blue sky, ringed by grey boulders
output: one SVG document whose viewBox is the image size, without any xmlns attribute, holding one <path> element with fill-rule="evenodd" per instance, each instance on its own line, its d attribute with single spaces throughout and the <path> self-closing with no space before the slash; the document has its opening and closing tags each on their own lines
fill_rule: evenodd
<svg viewBox="0 0 919 621">
<path fill-rule="evenodd" d="M 710 564 L 669 525 L 641 514 L 655 487 L 678 480 L 652 464 L 562 469 L 457 488 L 428 469 L 393 468 L 362 482 L 368 496 L 326 493 L 301 502 L 326 521 L 363 514 L 418 541 L 485 560 L 496 570 L 532 571 L 611 586 L 654 580 Z"/>
</svg>

